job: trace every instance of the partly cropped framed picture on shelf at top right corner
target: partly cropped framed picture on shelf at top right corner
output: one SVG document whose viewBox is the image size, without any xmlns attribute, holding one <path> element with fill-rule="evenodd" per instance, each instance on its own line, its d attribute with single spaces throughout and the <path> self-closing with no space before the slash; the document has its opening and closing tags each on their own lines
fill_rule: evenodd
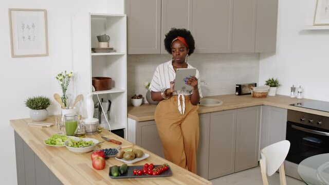
<svg viewBox="0 0 329 185">
<path fill-rule="evenodd" d="M 329 25 L 328 0 L 317 0 L 313 25 Z"/>
</svg>

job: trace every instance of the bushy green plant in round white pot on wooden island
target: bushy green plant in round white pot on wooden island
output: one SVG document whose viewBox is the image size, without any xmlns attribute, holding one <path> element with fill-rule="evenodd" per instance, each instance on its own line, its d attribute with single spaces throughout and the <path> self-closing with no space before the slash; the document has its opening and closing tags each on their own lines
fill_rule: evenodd
<svg viewBox="0 0 329 185">
<path fill-rule="evenodd" d="M 33 121 L 42 121 L 47 119 L 48 112 L 46 108 L 51 104 L 51 100 L 45 96 L 35 96 L 25 101 L 25 106 L 29 107 L 30 118 Z"/>
</svg>

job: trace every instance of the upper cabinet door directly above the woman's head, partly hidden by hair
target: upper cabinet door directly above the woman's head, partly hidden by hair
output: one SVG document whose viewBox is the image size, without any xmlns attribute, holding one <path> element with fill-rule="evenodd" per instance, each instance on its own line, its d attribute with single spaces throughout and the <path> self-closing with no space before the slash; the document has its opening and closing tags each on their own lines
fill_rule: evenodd
<svg viewBox="0 0 329 185">
<path fill-rule="evenodd" d="M 192 0 L 162 0 L 161 53 L 168 53 L 163 40 L 165 40 L 165 34 L 173 27 L 192 29 Z"/>
</svg>

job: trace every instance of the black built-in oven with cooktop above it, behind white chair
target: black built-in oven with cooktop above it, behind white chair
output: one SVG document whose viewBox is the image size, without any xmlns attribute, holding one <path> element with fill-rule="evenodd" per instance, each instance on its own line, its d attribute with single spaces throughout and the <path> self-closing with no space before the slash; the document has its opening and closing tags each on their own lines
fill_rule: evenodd
<svg viewBox="0 0 329 185">
<path fill-rule="evenodd" d="M 329 112 L 329 102 L 314 100 L 291 105 Z M 300 179 L 297 168 L 302 160 L 329 153 L 329 117 L 288 109 L 286 139 L 290 141 L 286 174 Z"/>
</svg>

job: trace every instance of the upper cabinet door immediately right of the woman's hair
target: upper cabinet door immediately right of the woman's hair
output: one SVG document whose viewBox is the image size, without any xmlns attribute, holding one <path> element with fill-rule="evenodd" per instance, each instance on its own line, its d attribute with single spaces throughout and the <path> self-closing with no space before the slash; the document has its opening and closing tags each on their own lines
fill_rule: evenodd
<svg viewBox="0 0 329 185">
<path fill-rule="evenodd" d="M 195 52 L 232 51 L 233 0 L 193 0 Z"/>
</svg>

